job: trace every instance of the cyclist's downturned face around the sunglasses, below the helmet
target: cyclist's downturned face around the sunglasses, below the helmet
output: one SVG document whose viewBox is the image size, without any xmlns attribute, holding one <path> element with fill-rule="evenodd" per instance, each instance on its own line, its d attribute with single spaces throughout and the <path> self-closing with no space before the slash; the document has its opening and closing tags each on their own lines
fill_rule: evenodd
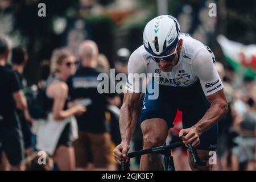
<svg viewBox="0 0 256 182">
<path fill-rule="evenodd" d="M 163 72 L 170 72 L 172 70 L 172 68 L 174 68 L 174 66 L 177 64 L 177 61 L 179 59 L 179 55 L 180 55 L 180 50 L 182 48 L 182 39 L 179 40 L 178 44 L 177 44 L 177 50 L 176 50 L 176 54 L 174 56 L 174 59 L 172 61 L 164 61 L 161 60 L 158 65 L 159 68 L 163 71 Z M 172 52 L 175 51 L 175 48 L 172 49 L 170 52 L 168 52 L 166 55 L 171 54 Z"/>
</svg>

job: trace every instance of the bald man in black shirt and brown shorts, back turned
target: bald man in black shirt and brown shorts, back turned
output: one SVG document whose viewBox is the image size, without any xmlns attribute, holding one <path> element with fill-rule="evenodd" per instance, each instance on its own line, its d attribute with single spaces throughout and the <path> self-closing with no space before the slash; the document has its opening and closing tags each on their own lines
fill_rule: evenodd
<svg viewBox="0 0 256 182">
<path fill-rule="evenodd" d="M 92 40 L 80 44 L 81 67 L 69 81 L 72 100 L 89 99 L 86 113 L 77 117 L 79 139 L 74 142 L 79 169 L 108 169 L 111 160 L 110 134 L 106 129 L 105 110 L 109 94 L 98 93 L 98 47 Z"/>
</svg>

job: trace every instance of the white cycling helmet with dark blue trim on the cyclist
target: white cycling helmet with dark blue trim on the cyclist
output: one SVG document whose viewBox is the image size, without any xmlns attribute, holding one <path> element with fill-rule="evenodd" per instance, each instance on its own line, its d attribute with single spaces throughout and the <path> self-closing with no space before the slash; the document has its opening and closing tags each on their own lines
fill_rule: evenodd
<svg viewBox="0 0 256 182">
<path fill-rule="evenodd" d="M 171 15 L 150 20 L 143 32 L 143 44 L 152 56 L 163 56 L 175 48 L 180 38 L 180 25 Z"/>
</svg>

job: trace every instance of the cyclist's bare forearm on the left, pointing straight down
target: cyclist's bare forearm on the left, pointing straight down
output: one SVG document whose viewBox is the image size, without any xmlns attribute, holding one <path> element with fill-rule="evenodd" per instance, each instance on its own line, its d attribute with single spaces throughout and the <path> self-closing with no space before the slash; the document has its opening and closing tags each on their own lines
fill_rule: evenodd
<svg viewBox="0 0 256 182">
<path fill-rule="evenodd" d="M 137 112 L 134 107 L 123 104 L 120 115 L 120 133 L 122 143 L 130 143 L 137 122 Z"/>
</svg>

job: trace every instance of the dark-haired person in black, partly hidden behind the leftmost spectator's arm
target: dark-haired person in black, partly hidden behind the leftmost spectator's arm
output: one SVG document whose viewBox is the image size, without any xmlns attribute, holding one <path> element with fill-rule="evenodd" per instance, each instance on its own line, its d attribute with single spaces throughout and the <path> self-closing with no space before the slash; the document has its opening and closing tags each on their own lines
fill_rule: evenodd
<svg viewBox="0 0 256 182">
<path fill-rule="evenodd" d="M 23 70 L 27 63 L 28 55 L 27 51 L 24 47 L 15 47 L 11 51 L 11 63 L 13 64 L 13 69 L 16 75 L 18 76 L 20 82 L 20 89 L 24 89 L 27 87 L 27 81 L 23 77 Z M 32 143 L 31 143 L 31 130 L 30 127 L 33 123 L 33 120 L 28 113 L 28 109 L 22 110 L 17 109 L 20 125 L 22 127 L 22 134 L 24 139 L 24 147 L 26 149 L 26 154 L 32 154 Z M 25 113 L 25 114 L 24 114 Z"/>
</svg>

